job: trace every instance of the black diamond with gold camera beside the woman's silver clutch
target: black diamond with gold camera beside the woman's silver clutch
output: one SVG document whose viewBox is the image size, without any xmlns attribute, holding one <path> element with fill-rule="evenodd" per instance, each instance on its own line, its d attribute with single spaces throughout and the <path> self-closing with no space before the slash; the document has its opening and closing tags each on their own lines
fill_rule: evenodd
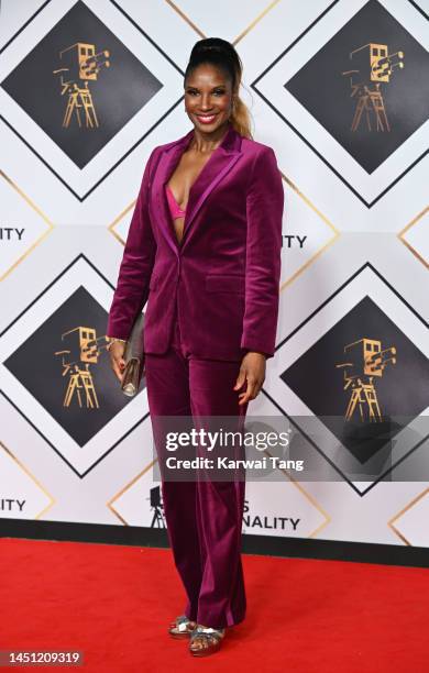
<svg viewBox="0 0 429 673">
<path fill-rule="evenodd" d="M 131 400 L 110 368 L 106 324 L 107 311 L 79 287 L 4 362 L 80 446 Z"/>
</svg>

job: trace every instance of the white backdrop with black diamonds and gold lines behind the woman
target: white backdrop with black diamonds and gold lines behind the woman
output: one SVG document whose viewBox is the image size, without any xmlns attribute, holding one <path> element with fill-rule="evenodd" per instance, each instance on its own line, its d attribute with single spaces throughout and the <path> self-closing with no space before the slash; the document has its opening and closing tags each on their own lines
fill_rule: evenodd
<svg viewBox="0 0 429 673">
<path fill-rule="evenodd" d="M 102 338 L 145 162 L 189 130 L 190 48 L 221 36 L 243 60 L 254 137 L 275 150 L 285 189 L 277 347 L 249 416 L 345 413 L 351 389 L 336 365 L 348 344 L 370 339 L 396 349 L 374 382 L 383 415 L 409 421 L 394 446 L 365 457 L 320 420 L 324 442 L 307 449 L 327 481 L 250 482 L 243 530 L 429 547 L 428 9 L 427 0 L 218 0 L 216 12 L 196 0 L 2 0 L 1 517 L 163 526 L 146 391 L 122 399 Z M 110 52 L 89 82 L 95 129 L 79 128 L 76 110 L 62 126 L 68 92 L 54 70 L 76 68 L 74 48 L 72 60 L 61 52 L 77 42 Z M 360 92 L 351 97 L 342 73 L 366 68 L 364 77 L 370 47 L 350 54 L 371 44 L 403 51 L 393 58 L 405 67 L 381 89 L 389 130 L 374 129 L 372 109 L 372 130 L 364 112 L 353 132 Z M 84 362 L 76 344 L 88 333 L 100 349 Z M 86 391 L 73 389 L 82 371 Z"/>
</svg>

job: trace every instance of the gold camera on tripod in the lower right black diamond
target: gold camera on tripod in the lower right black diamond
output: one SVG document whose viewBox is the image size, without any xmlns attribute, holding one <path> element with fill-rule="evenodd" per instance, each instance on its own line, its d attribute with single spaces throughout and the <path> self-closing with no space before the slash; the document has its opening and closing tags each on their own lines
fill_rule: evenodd
<svg viewBox="0 0 429 673">
<path fill-rule="evenodd" d="M 353 415 L 358 412 L 362 422 L 382 422 L 383 416 L 373 379 L 383 376 L 389 362 L 396 363 L 395 346 L 382 350 L 381 341 L 360 339 L 345 345 L 344 353 L 349 355 L 349 360 L 336 366 L 344 367 L 344 390 L 349 387 L 352 390 L 345 420 L 352 420 Z"/>
</svg>

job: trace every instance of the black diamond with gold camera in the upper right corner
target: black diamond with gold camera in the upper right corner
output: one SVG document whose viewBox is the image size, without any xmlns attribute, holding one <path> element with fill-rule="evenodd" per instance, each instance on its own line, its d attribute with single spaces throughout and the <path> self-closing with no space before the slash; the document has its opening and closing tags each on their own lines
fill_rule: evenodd
<svg viewBox="0 0 429 673">
<path fill-rule="evenodd" d="M 371 174 L 429 118 L 429 54 L 370 0 L 285 88 Z"/>
</svg>

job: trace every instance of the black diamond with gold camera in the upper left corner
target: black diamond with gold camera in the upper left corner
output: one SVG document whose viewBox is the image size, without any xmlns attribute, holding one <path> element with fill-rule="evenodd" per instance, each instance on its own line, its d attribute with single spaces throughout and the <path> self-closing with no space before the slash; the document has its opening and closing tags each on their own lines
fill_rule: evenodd
<svg viewBox="0 0 429 673">
<path fill-rule="evenodd" d="M 1 86 L 79 168 L 163 87 L 80 1 Z"/>
</svg>

